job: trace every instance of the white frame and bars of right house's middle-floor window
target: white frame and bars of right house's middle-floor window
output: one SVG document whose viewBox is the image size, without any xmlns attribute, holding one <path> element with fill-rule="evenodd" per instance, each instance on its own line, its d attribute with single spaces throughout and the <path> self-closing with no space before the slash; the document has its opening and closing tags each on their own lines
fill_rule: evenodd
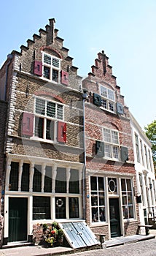
<svg viewBox="0 0 156 256">
<path fill-rule="evenodd" d="M 110 132 L 110 141 L 105 140 L 104 138 L 104 129 L 108 130 Z M 112 140 L 112 133 L 113 132 L 117 132 L 117 140 L 118 143 L 114 143 Z M 119 132 L 115 129 L 109 129 L 107 127 L 103 127 L 103 141 L 104 141 L 104 159 L 114 159 L 114 160 L 120 160 L 120 139 L 119 139 Z M 106 152 L 106 148 L 108 149 L 108 151 Z M 117 157 L 114 157 L 114 150 L 117 149 Z M 108 155 L 106 155 L 109 154 Z"/>
</svg>

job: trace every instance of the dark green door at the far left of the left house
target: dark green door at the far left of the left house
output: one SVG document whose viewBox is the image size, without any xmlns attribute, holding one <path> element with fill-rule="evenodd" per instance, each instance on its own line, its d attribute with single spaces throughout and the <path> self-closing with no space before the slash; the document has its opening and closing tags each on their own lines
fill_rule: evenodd
<svg viewBox="0 0 156 256">
<path fill-rule="evenodd" d="M 27 198 L 9 197 L 9 242 L 27 240 Z"/>
</svg>

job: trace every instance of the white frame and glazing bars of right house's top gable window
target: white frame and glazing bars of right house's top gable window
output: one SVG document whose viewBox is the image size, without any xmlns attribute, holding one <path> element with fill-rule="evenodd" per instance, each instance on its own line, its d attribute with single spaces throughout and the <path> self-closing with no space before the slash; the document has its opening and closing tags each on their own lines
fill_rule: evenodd
<svg viewBox="0 0 156 256">
<path fill-rule="evenodd" d="M 106 95 L 104 95 L 103 90 L 105 90 Z M 111 92 L 111 94 L 113 95 L 113 99 L 112 97 L 109 97 L 109 93 Z M 115 101 L 115 97 L 114 97 L 114 91 L 107 88 L 106 86 L 102 86 L 100 85 L 100 94 L 101 94 L 101 108 L 107 111 L 110 111 L 112 113 L 114 113 L 115 111 L 115 105 L 114 105 L 114 101 Z M 105 103 L 104 103 L 105 101 Z M 111 109 L 111 106 L 113 110 Z"/>
</svg>

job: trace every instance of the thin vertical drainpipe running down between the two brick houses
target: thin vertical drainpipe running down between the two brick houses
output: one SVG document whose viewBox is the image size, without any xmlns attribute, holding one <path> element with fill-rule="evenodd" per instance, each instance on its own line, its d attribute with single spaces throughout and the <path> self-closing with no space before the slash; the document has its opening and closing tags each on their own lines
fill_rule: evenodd
<svg viewBox="0 0 156 256">
<path fill-rule="evenodd" d="M 87 91 L 84 90 L 83 99 L 83 148 L 84 148 L 84 166 L 82 170 L 83 179 L 83 219 L 85 219 L 85 175 L 86 175 L 86 147 L 85 147 L 85 100 L 88 98 Z"/>
</svg>

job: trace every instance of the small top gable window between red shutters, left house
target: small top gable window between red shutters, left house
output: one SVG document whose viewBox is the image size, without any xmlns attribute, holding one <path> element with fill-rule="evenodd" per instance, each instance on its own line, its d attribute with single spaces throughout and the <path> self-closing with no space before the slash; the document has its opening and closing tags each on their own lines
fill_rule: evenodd
<svg viewBox="0 0 156 256">
<path fill-rule="evenodd" d="M 43 53 L 43 77 L 55 82 L 60 81 L 61 59 Z"/>
</svg>

